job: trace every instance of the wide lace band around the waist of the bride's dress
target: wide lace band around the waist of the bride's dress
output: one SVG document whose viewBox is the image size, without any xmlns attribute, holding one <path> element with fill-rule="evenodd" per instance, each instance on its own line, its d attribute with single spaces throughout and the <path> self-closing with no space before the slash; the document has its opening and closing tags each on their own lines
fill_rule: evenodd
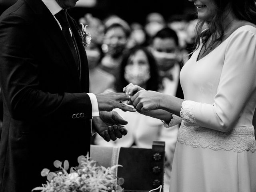
<svg viewBox="0 0 256 192">
<path fill-rule="evenodd" d="M 236 127 L 229 132 L 216 131 L 200 126 L 186 126 L 182 121 L 178 142 L 193 148 L 209 148 L 234 152 L 255 152 L 254 127 Z"/>
</svg>

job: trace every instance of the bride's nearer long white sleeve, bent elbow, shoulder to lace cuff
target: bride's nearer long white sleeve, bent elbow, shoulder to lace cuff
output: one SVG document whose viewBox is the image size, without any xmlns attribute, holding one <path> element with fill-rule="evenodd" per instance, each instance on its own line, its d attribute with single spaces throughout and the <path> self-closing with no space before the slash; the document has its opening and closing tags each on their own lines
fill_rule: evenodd
<svg viewBox="0 0 256 192">
<path fill-rule="evenodd" d="M 237 30 L 227 40 L 214 103 L 184 101 L 180 114 L 187 126 L 226 132 L 235 126 L 252 97 L 256 88 L 256 30 Z"/>
</svg>

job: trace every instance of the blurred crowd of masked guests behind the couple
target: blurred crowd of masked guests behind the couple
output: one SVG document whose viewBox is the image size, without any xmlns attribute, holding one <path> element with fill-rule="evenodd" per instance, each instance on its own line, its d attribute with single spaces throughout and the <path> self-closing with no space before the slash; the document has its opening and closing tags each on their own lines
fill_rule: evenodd
<svg viewBox="0 0 256 192">
<path fill-rule="evenodd" d="M 0 13 L 16 0 L 0 0 Z M 171 4 L 169 6 L 168 4 Z M 179 74 L 194 50 L 196 10 L 188 0 L 80 0 L 68 13 L 88 25 L 92 40 L 86 53 L 90 92 L 122 92 L 129 83 L 184 98 Z M 0 103 L 1 105 L 1 103 Z M 92 144 L 151 148 L 154 140 L 166 143 L 165 191 L 179 126 L 164 128 L 160 120 L 138 112 L 118 113 L 128 121 L 128 134 L 106 142 L 92 137 Z M 2 120 L 2 110 L 0 120 Z M 0 126 L 1 126 L 0 121 Z"/>
</svg>

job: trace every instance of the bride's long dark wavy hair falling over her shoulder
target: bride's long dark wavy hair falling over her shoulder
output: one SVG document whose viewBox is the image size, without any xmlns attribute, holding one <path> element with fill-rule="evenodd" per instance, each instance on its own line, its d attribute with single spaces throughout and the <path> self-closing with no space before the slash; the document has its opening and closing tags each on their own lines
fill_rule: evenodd
<svg viewBox="0 0 256 192">
<path fill-rule="evenodd" d="M 212 0 L 215 4 L 215 16 L 211 22 L 199 20 L 196 25 L 195 49 L 198 48 L 202 39 L 203 46 L 212 36 L 211 44 L 222 41 L 224 36 L 223 20 L 226 17 L 226 10 L 231 10 L 236 18 L 256 24 L 256 0 Z M 207 29 L 202 30 L 207 24 Z"/>
</svg>

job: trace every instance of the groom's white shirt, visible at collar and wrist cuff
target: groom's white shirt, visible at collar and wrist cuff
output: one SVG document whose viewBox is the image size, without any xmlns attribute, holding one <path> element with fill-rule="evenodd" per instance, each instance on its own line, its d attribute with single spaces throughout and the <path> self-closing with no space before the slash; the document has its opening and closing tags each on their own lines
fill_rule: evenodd
<svg viewBox="0 0 256 192">
<path fill-rule="evenodd" d="M 57 14 L 58 12 L 60 12 L 63 8 L 56 2 L 56 0 L 42 0 L 42 2 L 46 5 L 46 7 L 50 10 L 50 12 L 52 13 L 52 15 L 54 16 L 55 14 Z M 56 17 L 54 16 L 54 18 L 56 19 Z M 60 22 L 58 22 L 58 20 L 56 19 L 56 22 L 58 23 L 58 25 L 60 26 L 60 29 L 62 30 L 62 27 L 60 25 Z M 70 29 L 69 29 L 70 30 Z M 72 36 L 72 32 L 70 30 L 70 34 Z M 95 94 L 93 93 L 87 93 L 88 96 L 90 97 L 91 103 L 92 103 L 92 117 L 94 116 L 100 116 L 99 115 L 99 108 L 98 108 L 98 101 L 97 98 L 95 96 Z"/>
</svg>

